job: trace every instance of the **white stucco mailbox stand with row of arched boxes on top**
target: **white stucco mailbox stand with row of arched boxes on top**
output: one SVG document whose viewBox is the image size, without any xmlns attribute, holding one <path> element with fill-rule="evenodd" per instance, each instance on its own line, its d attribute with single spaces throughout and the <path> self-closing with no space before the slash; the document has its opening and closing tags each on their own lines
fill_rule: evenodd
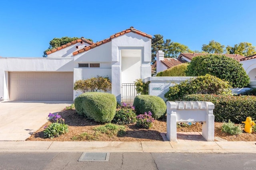
<svg viewBox="0 0 256 170">
<path fill-rule="evenodd" d="M 177 122 L 202 122 L 202 136 L 214 141 L 214 104 L 205 101 L 167 101 L 167 134 L 177 141 Z"/>
</svg>

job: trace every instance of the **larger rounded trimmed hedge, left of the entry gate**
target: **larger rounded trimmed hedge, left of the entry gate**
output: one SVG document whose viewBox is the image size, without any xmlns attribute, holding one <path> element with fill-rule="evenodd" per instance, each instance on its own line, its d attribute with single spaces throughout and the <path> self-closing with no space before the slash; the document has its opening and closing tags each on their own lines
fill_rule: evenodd
<svg viewBox="0 0 256 170">
<path fill-rule="evenodd" d="M 78 114 L 100 123 L 109 123 L 116 114 L 116 97 L 110 93 L 88 92 L 75 99 Z"/>
</svg>

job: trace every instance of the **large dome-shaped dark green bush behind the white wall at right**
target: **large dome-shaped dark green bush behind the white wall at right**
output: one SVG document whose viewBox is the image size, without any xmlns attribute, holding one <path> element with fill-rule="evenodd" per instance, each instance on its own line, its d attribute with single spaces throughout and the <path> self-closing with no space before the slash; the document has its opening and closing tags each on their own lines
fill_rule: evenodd
<svg viewBox="0 0 256 170">
<path fill-rule="evenodd" d="M 245 87 L 250 78 L 242 64 L 225 55 L 203 55 L 194 57 L 186 70 L 187 76 L 214 75 L 228 81 L 232 87 Z"/>
</svg>

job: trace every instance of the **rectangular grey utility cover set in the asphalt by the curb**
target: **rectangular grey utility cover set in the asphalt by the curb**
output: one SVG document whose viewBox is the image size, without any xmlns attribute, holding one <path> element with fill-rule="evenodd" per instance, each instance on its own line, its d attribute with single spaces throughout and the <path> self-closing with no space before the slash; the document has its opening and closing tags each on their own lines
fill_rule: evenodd
<svg viewBox="0 0 256 170">
<path fill-rule="evenodd" d="M 83 152 L 78 161 L 107 161 L 109 160 L 109 153 L 94 153 L 94 152 Z"/>
</svg>

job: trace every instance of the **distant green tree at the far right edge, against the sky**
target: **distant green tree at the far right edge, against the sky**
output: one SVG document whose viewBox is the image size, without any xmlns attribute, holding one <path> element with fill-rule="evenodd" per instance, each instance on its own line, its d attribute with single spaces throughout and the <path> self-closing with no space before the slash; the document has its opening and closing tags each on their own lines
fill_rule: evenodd
<svg viewBox="0 0 256 170">
<path fill-rule="evenodd" d="M 227 46 L 226 53 L 228 54 L 240 54 L 244 56 L 254 55 L 256 53 L 255 46 L 252 43 L 241 42 L 239 44 L 235 44 L 234 47 Z"/>
</svg>

